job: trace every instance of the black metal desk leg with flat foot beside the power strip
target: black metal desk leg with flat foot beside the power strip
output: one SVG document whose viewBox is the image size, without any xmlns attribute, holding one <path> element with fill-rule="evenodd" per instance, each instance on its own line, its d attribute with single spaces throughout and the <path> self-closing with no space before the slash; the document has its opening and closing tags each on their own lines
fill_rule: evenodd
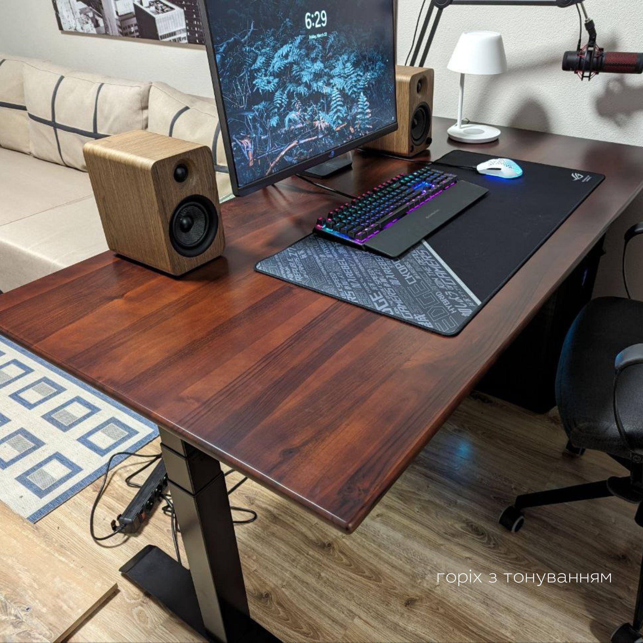
<svg viewBox="0 0 643 643">
<path fill-rule="evenodd" d="M 159 428 L 190 571 L 146 547 L 121 571 L 215 641 L 277 639 L 250 618 L 226 482 L 219 462 Z"/>
</svg>

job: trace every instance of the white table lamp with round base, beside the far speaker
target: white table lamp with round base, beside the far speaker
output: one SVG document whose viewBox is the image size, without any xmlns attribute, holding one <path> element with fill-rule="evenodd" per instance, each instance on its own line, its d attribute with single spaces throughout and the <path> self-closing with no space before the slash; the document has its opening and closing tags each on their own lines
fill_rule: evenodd
<svg viewBox="0 0 643 643">
<path fill-rule="evenodd" d="M 449 127 L 451 138 L 461 143 L 490 143 L 500 136 L 500 130 L 489 125 L 462 124 L 464 75 L 494 75 L 507 71 L 507 57 L 502 36 L 496 32 L 465 32 L 455 46 L 448 69 L 460 73 L 458 122 Z"/>
</svg>

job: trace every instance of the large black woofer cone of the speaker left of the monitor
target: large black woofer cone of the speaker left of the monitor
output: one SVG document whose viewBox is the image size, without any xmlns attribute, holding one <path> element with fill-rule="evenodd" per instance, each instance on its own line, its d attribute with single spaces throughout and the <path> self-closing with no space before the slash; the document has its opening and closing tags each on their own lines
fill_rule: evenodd
<svg viewBox="0 0 643 643">
<path fill-rule="evenodd" d="M 195 194 L 179 203 L 170 219 L 170 242 L 183 257 L 202 255 L 217 236 L 219 215 L 210 199 Z"/>
</svg>

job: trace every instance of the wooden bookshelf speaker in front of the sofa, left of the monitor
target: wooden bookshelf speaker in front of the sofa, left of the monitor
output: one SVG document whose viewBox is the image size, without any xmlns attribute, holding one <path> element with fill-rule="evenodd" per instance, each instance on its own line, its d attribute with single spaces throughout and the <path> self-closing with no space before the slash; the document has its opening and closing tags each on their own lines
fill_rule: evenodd
<svg viewBox="0 0 643 643">
<path fill-rule="evenodd" d="M 225 246 L 212 152 L 152 132 L 86 143 L 84 156 L 107 245 L 170 275 Z"/>
</svg>

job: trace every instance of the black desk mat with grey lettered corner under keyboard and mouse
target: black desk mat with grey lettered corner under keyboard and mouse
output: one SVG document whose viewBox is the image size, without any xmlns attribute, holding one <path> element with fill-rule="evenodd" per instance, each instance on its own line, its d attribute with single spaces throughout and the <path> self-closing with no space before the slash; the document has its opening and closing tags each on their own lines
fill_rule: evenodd
<svg viewBox="0 0 643 643">
<path fill-rule="evenodd" d="M 456 335 L 604 179 L 527 161 L 517 161 L 524 174 L 511 181 L 452 167 L 475 167 L 490 158 L 456 151 L 435 161 L 489 194 L 397 260 L 313 234 L 258 262 L 256 269 L 428 331 Z"/>
</svg>

